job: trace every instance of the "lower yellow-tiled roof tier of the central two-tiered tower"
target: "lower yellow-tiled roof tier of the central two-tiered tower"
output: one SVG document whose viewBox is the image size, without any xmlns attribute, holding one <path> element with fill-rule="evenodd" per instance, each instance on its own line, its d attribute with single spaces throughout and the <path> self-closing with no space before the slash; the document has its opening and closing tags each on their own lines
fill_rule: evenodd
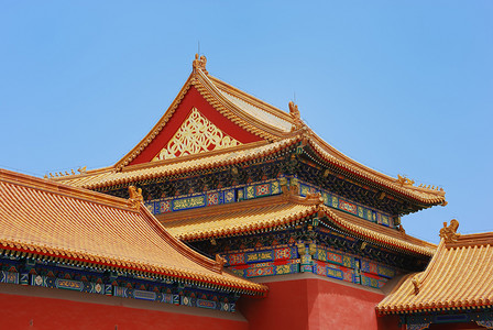
<svg viewBox="0 0 493 330">
<path fill-rule="evenodd" d="M 319 195 L 299 197 L 292 193 L 242 201 L 234 207 L 215 206 L 206 209 L 163 213 L 157 219 L 176 238 L 190 241 L 234 237 L 245 232 L 283 229 L 316 215 L 330 228 L 374 242 L 382 246 L 432 255 L 436 245 L 404 232 L 390 229 L 324 205 Z"/>
</svg>

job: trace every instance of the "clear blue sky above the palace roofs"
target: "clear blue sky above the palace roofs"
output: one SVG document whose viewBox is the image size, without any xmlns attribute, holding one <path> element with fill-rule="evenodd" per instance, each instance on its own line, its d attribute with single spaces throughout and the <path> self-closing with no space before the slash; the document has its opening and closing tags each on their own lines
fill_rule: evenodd
<svg viewBox="0 0 493 330">
<path fill-rule="evenodd" d="M 0 167 L 114 164 L 200 42 L 211 75 L 284 110 L 296 95 L 341 152 L 443 187 L 407 233 L 493 231 L 492 1 L 177 2 L 0 0 Z"/>
</svg>

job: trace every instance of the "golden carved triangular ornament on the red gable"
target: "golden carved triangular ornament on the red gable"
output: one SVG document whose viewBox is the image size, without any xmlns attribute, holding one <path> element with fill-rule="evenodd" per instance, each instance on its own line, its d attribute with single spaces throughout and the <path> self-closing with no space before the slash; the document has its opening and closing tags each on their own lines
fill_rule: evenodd
<svg viewBox="0 0 493 330">
<path fill-rule="evenodd" d="M 152 161 L 169 160 L 240 144 L 194 108 L 167 145 Z"/>
</svg>

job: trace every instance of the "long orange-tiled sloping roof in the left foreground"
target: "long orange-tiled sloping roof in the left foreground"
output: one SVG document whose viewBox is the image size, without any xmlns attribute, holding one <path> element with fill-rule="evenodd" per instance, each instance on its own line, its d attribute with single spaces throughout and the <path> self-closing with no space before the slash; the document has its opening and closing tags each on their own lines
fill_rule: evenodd
<svg viewBox="0 0 493 330">
<path fill-rule="evenodd" d="M 121 199 L 0 169 L 0 248 L 72 265 L 246 294 L 266 287 L 228 274 L 171 235 L 139 199 Z"/>
</svg>

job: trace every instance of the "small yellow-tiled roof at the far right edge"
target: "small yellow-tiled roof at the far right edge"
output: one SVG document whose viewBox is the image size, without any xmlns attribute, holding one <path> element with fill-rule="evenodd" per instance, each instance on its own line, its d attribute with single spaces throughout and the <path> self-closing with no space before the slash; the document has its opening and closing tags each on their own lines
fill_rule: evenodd
<svg viewBox="0 0 493 330">
<path fill-rule="evenodd" d="M 460 235 L 459 223 L 440 231 L 437 253 L 421 273 L 409 274 L 383 299 L 380 314 L 492 307 L 493 232 Z"/>
</svg>

